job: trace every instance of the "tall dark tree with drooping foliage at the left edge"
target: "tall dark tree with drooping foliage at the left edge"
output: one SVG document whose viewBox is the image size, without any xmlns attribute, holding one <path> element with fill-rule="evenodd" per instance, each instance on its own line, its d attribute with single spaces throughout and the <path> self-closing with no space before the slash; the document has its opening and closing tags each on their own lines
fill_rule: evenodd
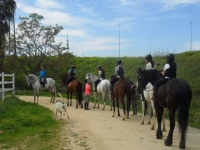
<svg viewBox="0 0 200 150">
<path fill-rule="evenodd" d="M 14 19 L 16 2 L 0 0 L 0 72 L 4 71 L 6 34 L 10 31 L 10 22 Z"/>
</svg>

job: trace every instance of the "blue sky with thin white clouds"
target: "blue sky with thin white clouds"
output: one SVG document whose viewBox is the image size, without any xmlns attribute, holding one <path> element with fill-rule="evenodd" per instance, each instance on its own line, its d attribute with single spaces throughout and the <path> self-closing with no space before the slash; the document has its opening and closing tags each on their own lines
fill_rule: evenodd
<svg viewBox="0 0 200 150">
<path fill-rule="evenodd" d="M 56 36 L 80 57 L 153 56 L 200 50 L 200 0 L 15 0 L 19 17 L 38 13 L 63 26 Z"/>
</svg>

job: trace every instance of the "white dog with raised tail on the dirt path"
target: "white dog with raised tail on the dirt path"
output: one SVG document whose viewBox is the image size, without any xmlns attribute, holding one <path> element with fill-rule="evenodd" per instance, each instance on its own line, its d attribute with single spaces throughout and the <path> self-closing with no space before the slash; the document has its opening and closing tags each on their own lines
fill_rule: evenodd
<svg viewBox="0 0 200 150">
<path fill-rule="evenodd" d="M 58 93 L 60 95 L 60 97 L 63 99 L 62 95 L 60 93 Z M 60 113 L 60 120 L 62 119 L 62 113 L 66 112 L 67 117 L 69 119 L 69 115 L 67 113 L 67 105 L 64 103 L 64 101 L 62 102 L 61 100 L 57 100 L 56 101 L 56 118 L 57 118 L 57 113 Z M 65 115 L 65 114 L 63 114 Z"/>
</svg>

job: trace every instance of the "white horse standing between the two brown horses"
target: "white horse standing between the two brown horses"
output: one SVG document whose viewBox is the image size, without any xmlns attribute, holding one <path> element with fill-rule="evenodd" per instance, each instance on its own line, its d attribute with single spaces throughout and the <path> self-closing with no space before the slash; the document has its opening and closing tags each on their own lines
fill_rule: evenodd
<svg viewBox="0 0 200 150">
<path fill-rule="evenodd" d="M 94 90 L 94 82 L 98 79 L 98 77 L 94 75 L 93 73 L 87 73 L 85 78 L 88 79 L 89 82 L 92 82 L 93 90 Z M 102 95 L 103 101 L 104 101 L 102 110 L 104 110 L 105 105 L 106 105 L 106 94 L 108 94 L 109 102 L 110 102 L 110 111 L 112 111 L 112 104 L 111 104 L 111 98 L 110 98 L 109 93 L 110 93 L 110 81 L 107 79 L 101 80 L 101 82 L 97 85 L 97 92 L 94 92 L 94 107 L 93 108 L 96 108 L 97 99 L 98 99 L 97 108 L 99 108 L 99 99 L 100 99 L 100 95 Z"/>
</svg>

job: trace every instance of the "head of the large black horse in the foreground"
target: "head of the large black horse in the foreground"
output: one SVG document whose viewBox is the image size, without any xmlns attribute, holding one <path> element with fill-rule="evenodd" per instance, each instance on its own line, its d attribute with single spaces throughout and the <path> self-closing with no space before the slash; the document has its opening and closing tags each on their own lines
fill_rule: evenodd
<svg viewBox="0 0 200 150">
<path fill-rule="evenodd" d="M 138 80 L 137 90 L 138 90 L 138 93 L 142 94 L 142 92 L 143 92 L 143 90 L 145 89 L 145 86 L 146 86 L 145 74 L 144 74 L 144 71 L 141 68 L 137 69 L 137 73 L 138 73 L 138 76 L 137 76 L 137 80 Z"/>
</svg>

